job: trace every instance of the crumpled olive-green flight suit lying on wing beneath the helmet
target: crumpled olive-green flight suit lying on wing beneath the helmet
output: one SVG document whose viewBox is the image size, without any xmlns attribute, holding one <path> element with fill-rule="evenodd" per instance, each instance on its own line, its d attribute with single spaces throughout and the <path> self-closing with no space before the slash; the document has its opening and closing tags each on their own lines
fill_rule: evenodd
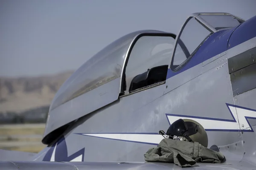
<svg viewBox="0 0 256 170">
<path fill-rule="evenodd" d="M 145 161 L 170 162 L 180 167 L 192 167 L 196 162 L 223 163 L 222 153 L 202 146 L 198 142 L 163 139 L 157 147 L 149 149 Z"/>
</svg>

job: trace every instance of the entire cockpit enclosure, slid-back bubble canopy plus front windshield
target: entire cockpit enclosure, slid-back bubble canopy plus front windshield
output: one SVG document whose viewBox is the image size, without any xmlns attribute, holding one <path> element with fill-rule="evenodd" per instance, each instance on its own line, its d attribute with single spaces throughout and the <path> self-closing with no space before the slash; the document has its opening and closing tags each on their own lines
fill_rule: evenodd
<svg viewBox="0 0 256 170">
<path fill-rule="evenodd" d="M 81 65 L 58 90 L 49 109 L 44 137 L 120 97 L 165 84 L 168 70 L 183 68 L 210 36 L 242 22 L 227 13 L 195 13 L 177 36 L 142 30 L 112 42 Z M 65 120 L 56 120 L 62 116 L 66 116 Z"/>
</svg>

